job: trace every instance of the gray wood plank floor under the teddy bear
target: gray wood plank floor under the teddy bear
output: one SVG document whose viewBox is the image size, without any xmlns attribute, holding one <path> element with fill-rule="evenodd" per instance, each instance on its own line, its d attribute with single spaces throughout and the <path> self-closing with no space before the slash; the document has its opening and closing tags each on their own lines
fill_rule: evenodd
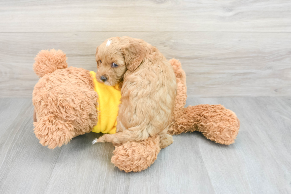
<svg viewBox="0 0 291 194">
<path fill-rule="evenodd" d="M 199 132 L 174 136 L 139 173 L 110 163 L 110 143 L 88 133 L 50 150 L 33 133 L 29 98 L 0 98 L 0 193 L 291 193 L 291 98 L 188 98 L 222 104 L 241 121 L 234 144 Z"/>
</svg>

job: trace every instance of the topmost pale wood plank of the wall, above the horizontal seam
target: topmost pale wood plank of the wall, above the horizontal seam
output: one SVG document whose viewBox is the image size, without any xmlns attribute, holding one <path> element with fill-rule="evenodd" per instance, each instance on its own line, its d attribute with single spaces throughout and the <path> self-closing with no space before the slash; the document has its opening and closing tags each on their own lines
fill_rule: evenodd
<svg viewBox="0 0 291 194">
<path fill-rule="evenodd" d="M 289 0 L 2 0 L 0 7 L 0 32 L 291 32 Z"/>
</svg>

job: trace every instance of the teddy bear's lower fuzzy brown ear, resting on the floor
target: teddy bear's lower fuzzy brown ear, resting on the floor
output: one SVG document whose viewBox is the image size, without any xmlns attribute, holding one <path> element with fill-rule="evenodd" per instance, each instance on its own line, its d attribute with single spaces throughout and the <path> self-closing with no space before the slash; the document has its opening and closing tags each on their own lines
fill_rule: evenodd
<svg viewBox="0 0 291 194">
<path fill-rule="evenodd" d="M 71 122 L 59 120 L 54 115 L 47 115 L 38 117 L 37 122 L 34 122 L 34 134 L 39 139 L 39 143 L 53 149 L 67 144 L 75 137 L 75 129 Z"/>
</svg>

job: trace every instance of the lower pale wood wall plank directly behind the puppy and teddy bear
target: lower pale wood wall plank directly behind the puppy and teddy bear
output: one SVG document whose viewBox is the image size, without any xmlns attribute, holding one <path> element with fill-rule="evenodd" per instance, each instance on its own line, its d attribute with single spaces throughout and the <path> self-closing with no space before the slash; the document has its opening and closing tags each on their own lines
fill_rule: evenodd
<svg viewBox="0 0 291 194">
<path fill-rule="evenodd" d="M 34 57 L 61 49 L 69 66 L 97 70 L 97 45 L 132 36 L 181 60 L 189 97 L 291 96 L 291 33 L 0 33 L 0 97 L 31 97 Z"/>
</svg>

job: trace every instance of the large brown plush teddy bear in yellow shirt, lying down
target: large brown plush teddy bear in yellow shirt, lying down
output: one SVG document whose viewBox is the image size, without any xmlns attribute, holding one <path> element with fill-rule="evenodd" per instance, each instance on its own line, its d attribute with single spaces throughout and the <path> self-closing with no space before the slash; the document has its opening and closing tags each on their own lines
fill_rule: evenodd
<svg viewBox="0 0 291 194">
<path fill-rule="evenodd" d="M 34 87 L 32 97 L 34 133 L 39 143 L 51 149 L 91 131 L 116 132 L 114 119 L 119 103 L 116 99 L 120 99 L 118 86 L 96 83 L 93 72 L 68 68 L 66 59 L 61 50 L 54 49 L 42 50 L 35 57 L 34 71 L 41 78 Z M 222 105 L 184 108 L 186 75 L 178 60 L 172 59 L 170 63 L 177 78 L 178 90 L 168 134 L 199 131 L 217 143 L 234 143 L 240 125 L 235 113 Z M 156 135 L 141 142 L 115 145 L 111 162 L 125 172 L 142 171 L 154 163 L 159 151 L 159 136 Z"/>
</svg>

